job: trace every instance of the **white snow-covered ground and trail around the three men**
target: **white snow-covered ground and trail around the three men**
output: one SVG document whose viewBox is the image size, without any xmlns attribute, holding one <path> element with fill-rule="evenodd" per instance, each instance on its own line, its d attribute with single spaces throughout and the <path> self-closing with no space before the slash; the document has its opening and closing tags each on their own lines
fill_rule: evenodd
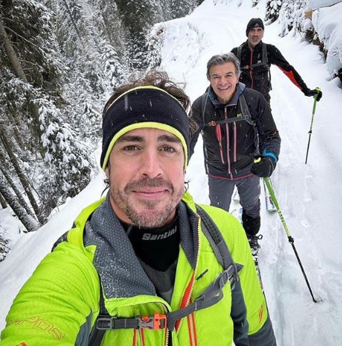
<svg viewBox="0 0 342 346">
<path fill-rule="evenodd" d="M 208 86 L 208 59 L 240 45 L 246 39 L 248 20 L 263 18 L 264 0 L 255 8 L 250 4 L 205 0 L 190 16 L 160 24 L 164 27 L 162 68 L 173 79 L 187 82 L 192 101 Z M 279 38 L 277 25 L 265 27 L 264 42 L 281 50 L 309 88 L 320 86 L 323 91 L 305 165 L 313 98 L 305 97 L 277 67 L 271 68 L 271 106 L 282 137 L 273 185 L 313 293 L 323 302 L 312 301 L 279 218 L 267 215 L 262 208 L 260 267 L 265 294 L 278 346 L 342 345 L 342 90 L 337 87 L 338 80 L 328 81 L 330 76 L 318 47 L 291 33 Z M 194 198 L 209 202 L 201 139 L 187 175 Z M 20 236 L 0 263 L 0 330 L 12 299 L 54 241 L 70 228 L 83 207 L 100 198 L 102 179 L 97 176 L 36 233 Z M 231 208 L 237 208 L 235 202 Z"/>
</svg>

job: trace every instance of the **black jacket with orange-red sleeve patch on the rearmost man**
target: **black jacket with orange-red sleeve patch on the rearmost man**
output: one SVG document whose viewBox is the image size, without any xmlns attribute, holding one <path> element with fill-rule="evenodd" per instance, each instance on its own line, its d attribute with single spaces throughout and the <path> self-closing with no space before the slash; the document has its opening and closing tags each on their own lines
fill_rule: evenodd
<svg viewBox="0 0 342 346">
<path fill-rule="evenodd" d="M 266 44 L 266 46 L 268 68 L 271 64 L 278 66 L 291 82 L 298 86 L 298 88 L 305 94 L 308 88 L 294 67 L 286 61 L 277 47 L 272 44 Z M 233 48 L 231 52 L 237 56 L 237 47 Z M 261 62 L 263 62 L 263 48 L 261 42 L 258 43 L 253 50 L 249 48 L 247 41 L 241 45 L 240 82 L 244 83 L 247 88 L 258 90 L 263 95 L 266 95 L 270 91 L 267 66 L 259 65 L 254 67 L 252 70 L 250 69 L 251 65 Z"/>
</svg>

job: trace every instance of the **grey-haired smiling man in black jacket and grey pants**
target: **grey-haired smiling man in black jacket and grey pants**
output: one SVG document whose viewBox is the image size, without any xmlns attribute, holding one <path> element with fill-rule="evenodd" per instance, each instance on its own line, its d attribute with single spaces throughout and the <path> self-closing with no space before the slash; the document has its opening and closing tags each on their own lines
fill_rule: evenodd
<svg viewBox="0 0 342 346">
<path fill-rule="evenodd" d="M 228 211 L 237 186 L 243 226 L 257 251 L 259 177 L 268 177 L 275 169 L 281 139 L 265 98 L 240 83 L 239 76 L 239 61 L 232 53 L 208 61 L 210 86 L 192 105 L 192 119 L 199 129 L 192 137 L 190 155 L 202 131 L 210 203 Z"/>
</svg>

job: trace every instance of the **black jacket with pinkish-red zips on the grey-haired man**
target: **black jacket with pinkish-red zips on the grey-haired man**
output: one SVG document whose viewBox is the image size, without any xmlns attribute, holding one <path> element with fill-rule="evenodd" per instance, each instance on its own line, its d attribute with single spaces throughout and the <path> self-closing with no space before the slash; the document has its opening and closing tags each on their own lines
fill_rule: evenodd
<svg viewBox="0 0 342 346">
<path fill-rule="evenodd" d="M 246 120 L 205 125 L 211 121 L 241 116 L 239 97 L 242 93 L 255 126 Z M 275 162 L 278 160 L 281 139 L 270 108 L 262 94 L 245 88 L 243 83 L 237 84 L 235 94 L 227 104 L 220 103 L 209 87 L 207 93 L 193 102 L 191 118 L 199 128 L 191 138 L 190 157 L 202 131 L 206 171 L 211 176 L 239 179 L 252 175 L 250 167 L 259 150 L 263 155 L 271 156 Z"/>
</svg>

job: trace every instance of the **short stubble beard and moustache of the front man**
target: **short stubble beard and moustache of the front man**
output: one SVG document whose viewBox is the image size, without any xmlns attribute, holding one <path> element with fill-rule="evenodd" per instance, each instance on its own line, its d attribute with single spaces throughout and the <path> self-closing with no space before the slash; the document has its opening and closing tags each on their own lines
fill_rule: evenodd
<svg viewBox="0 0 342 346">
<path fill-rule="evenodd" d="M 143 187 L 165 187 L 170 193 L 168 203 L 162 209 L 155 209 L 158 207 L 159 201 L 153 200 L 139 200 L 137 205 L 129 201 L 129 196 L 132 190 L 141 189 Z M 134 225 L 143 228 L 155 228 L 164 226 L 165 222 L 171 215 L 172 211 L 177 207 L 184 189 L 175 191 L 174 186 L 163 180 L 162 178 L 150 179 L 144 178 L 139 181 L 128 183 L 124 191 L 120 191 L 115 187 L 115 184 L 110 184 L 110 196 L 115 202 L 117 207 L 133 222 Z M 145 209 L 138 210 L 140 206 Z M 147 210 L 146 210 L 147 209 Z"/>
</svg>

